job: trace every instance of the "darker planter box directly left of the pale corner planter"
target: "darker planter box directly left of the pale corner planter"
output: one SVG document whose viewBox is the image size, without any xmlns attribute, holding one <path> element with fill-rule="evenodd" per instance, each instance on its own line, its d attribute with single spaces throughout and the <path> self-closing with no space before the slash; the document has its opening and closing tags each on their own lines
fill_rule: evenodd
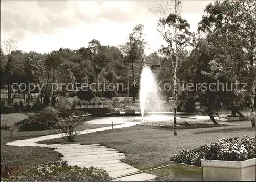
<svg viewBox="0 0 256 182">
<path fill-rule="evenodd" d="M 203 170 L 202 167 L 176 163 L 169 161 L 170 169 L 170 180 L 179 181 L 202 181 L 203 180 Z"/>
</svg>

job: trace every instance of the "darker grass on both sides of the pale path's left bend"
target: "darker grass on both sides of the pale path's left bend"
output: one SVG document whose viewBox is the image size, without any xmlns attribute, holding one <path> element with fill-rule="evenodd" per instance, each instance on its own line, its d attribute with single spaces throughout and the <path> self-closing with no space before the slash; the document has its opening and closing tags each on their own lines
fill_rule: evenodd
<svg viewBox="0 0 256 182">
<path fill-rule="evenodd" d="M 84 124 L 82 127 L 84 129 L 93 129 L 98 127 L 111 126 L 111 124 Z M 54 134 L 55 131 L 51 131 Z M 12 132 L 12 140 L 10 138 L 10 131 L 1 131 L 1 157 L 3 157 L 9 165 L 27 165 L 34 166 L 42 163 L 48 163 L 51 161 L 60 160 L 61 154 L 53 151 L 52 148 L 46 147 L 18 147 L 9 146 L 5 143 L 24 140 L 29 138 L 40 137 L 44 135 L 49 135 L 49 130 L 44 131 L 17 131 Z M 63 140 L 64 141 L 64 140 Z"/>
</svg>

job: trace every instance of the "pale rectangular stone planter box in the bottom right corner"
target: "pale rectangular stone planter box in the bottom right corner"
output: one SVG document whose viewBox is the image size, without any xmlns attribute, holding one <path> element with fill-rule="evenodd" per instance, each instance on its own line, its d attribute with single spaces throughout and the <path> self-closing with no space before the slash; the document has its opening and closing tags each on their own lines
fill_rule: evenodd
<svg viewBox="0 0 256 182">
<path fill-rule="evenodd" d="M 256 158 L 245 161 L 201 159 L 205 181 L 255 181 Z"/>
</svg>

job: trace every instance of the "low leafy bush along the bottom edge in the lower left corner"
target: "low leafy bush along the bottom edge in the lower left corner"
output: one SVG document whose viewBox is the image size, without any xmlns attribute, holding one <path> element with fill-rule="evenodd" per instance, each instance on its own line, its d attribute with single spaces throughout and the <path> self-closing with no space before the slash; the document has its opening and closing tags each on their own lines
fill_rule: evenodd
<svg viewBox="0 0 256 182">
<path fill-rule="evenodd" d="M 69 166 L 65 162 L 53 162 L 31 167 L 18 175 L 1 178 L 1 181 L 111 181 L 109 174 L 95 167 Z"/>
</svg>

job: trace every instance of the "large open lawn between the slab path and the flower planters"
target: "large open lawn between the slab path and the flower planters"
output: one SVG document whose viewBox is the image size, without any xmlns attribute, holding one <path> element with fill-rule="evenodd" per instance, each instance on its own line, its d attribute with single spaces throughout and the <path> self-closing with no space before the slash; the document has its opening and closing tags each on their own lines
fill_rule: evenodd
<svg viewBox="0 0 256 182">
<path fill-rule="evenodd" d="M 76 141 L 83 144 L 102 144 L 125 153 L 123 162 L 138 169 L 146 170 L 165 166 L 168 159 L 181 150 L 191 150 L 203 144 L 233 136 L 255 136 L 255 128 L 250 121 L 232 122 L 236 126 L 179 129 L 174 136 L 173 128 L 156 128 L 150 126 L 133 126 L 129 128 L 101 131 L 79 135 Z M 61 139 L 52 139 L 38 143 L 63 143 Z M 155 175 L 168 175 L 168 169 L 156 170 Z"/>
</svg>

